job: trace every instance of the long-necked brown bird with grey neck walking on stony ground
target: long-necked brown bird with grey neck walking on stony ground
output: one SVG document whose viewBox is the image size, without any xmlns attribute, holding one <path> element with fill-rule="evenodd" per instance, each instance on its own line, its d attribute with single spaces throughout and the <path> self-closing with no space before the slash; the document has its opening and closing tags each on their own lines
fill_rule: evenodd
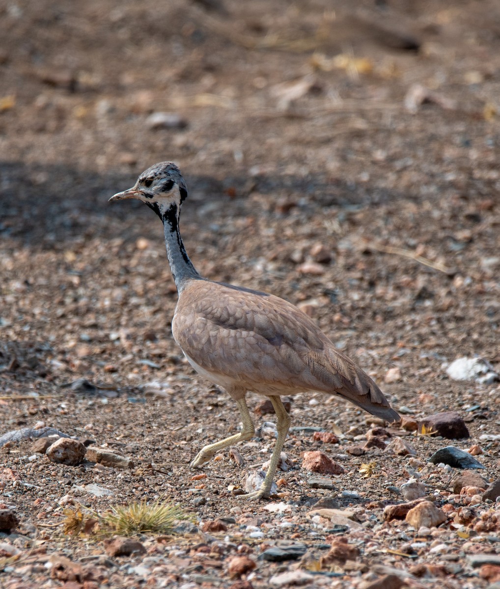
<svg viewBox="0 0 500 589">
<path fill-rule="evenodd" d="M 265 499 L 271 493 L 290 428 L 281 395 L 322 392 L 347 399 L 389 423 L 399 421 L 400 416 L 370 376 L 335 349 L 314 320 L 292 303 L 198 273 L 179 231 L 180 209 L 186 197 L 179 168 L 162 161 L 143 171 L 133 187 L 114 194 L 109 201 L 136 198 L 162 220 L 177 289 L 173 338 L 199 375 L 229 393 L 241 415 L 241 431 L 206 445 L 190 466 L 202 468 L 224 448 L 251 439 L 255 428 L 246 393 L 267 396 L 276 413 L 277 439 L 261 487 L 241 495 Z"/>
</svg>

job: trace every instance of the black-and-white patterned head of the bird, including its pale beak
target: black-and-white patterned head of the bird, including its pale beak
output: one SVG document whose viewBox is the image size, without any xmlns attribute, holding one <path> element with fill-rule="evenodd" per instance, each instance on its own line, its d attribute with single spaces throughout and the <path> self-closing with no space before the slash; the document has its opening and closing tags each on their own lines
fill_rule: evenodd
<svg viewBox="0 0 500 589">
<path fill-rule="evenodd" d="M 133 187 L 114 194 L 109 200 L 142 200 L 165 221 L 172 214 L 179 214 L 186 196 L 186 183 L 179 168 L 171 161 L 160 161 L 144 170 Z"/>
</svg>

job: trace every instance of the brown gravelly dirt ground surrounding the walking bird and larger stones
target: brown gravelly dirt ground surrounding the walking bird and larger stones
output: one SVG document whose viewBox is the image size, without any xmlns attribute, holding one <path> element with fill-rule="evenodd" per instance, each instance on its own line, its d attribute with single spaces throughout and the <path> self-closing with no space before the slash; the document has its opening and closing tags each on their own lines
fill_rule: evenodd
<svg viewBox="0 0 500 589">
<path fill-rule="evenodd" d="M 51 426 L 134 462 L 64 466 L 29 459 L 29 440 L 4 446 L 0 502 L 19 528 L 0 542 L 20 552 L 2 561 L 0 549 L 0 587 L 500 581 L 500 523 L 474 530 L 500 505 L 480 502 L 455 525 L 469 499 L 450 491 L 458 469 L 426 464 L 478 444 L 481 474 L 500 477 L 498 382 L 451 380 L 444 366 L 478 355 L 500 368 L 498 2 L 15 0 L 0 17 L 0 435 Z M 157 112 L 173 116 L 154 124 Z M 162 160 L 186 177 L 181 230 L 200 273 L 300 305 L 407 417 L 465 419 L 460 441 L 389 429 L 416 449 L 436 504 L 455 505 L 447 522 L 424 537 L 384 522 L 415 469 L 381 448 L 348 454 L 373 423 L 319 394 L 294 396 L 292 426 L 340 441 L 292 431 L 279 497 L 228 490 L 269 458 L 265 433 L 238 446 L 243 466 L 225 452 L 192 479 L 196 452 L 237 431 L 236 407 L 172 339 L 159 220 L 107 203 Z M 272 418 L 255 415 L 256 427 Z M 344 468 L 333 489 L 307 483 L 302 455 L 317 449 Z M 146 534 L 146 555 L 113 558 L 91 535 L 63 534 L 72 504 L 159 497 L 226 530 Z M 317 565 L 340 530 L 308 515 L 318 499 L 354 512 L 343 530 L 355 560 Z M 280 542 L 307 545 L 310 560 L 259 558 Z M 241 554 L 254 571 L 234 573 Z M 498 562 L 476 567 L 476 554 Z M 62 556 L 88 574 L 57 568 Z"/>
</svg>

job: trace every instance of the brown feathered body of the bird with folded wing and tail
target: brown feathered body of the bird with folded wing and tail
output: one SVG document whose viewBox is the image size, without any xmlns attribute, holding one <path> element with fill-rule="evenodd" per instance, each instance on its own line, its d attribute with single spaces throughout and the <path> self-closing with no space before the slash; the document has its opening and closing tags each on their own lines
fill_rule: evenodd
<svg viewBox="0 0 500 589">
<path fill-rule="evenodd" d="M 235 386 L 261 393 L 324 391 L 388 421 L 399 419 L 373 380 L 310 317 L 279 297 L 196 281 L 179 298 L 172 332 L 186 356 Z"/>
</svg>

